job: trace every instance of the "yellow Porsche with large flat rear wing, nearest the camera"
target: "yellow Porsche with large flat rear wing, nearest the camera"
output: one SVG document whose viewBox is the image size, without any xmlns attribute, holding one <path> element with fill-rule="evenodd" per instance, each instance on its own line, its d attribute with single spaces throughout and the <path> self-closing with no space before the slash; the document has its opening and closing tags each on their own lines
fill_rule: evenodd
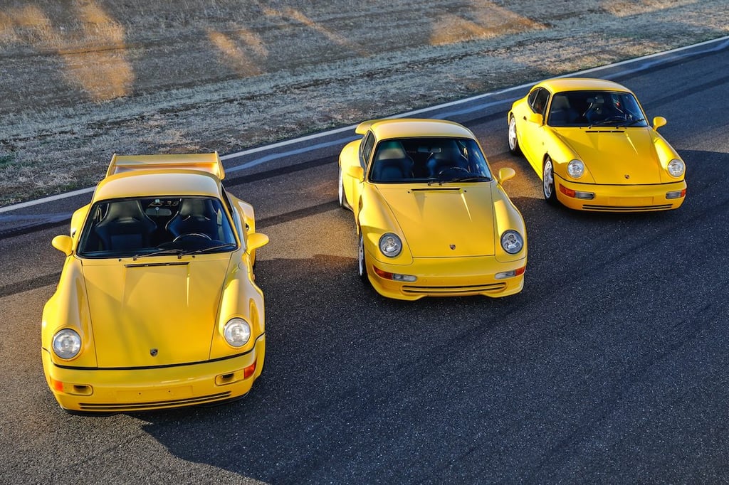
<svg viewBox="0 0 729 485">
<path fill-rule="evenodd" d="M 217 403 L 249 392 L 265 355 L 251 205 L 217 153 L 114 155 L 45 304 L 46 381 L 69 412 Z"/>
</svg>

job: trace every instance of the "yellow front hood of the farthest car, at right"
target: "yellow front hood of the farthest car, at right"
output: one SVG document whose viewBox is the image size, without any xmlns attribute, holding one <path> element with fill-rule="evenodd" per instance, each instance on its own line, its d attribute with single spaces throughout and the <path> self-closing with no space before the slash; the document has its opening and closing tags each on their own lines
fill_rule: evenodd
<svg viewBox="0 0 729 485">
<path fill-rule="evenodd" d="M 555 132 L 578 157 L 596 184 L 657 184 L 663 167 L 650 128 L 559 128 Z M 569 160 L 565 160 L 569 162 Z"/>
</svg>

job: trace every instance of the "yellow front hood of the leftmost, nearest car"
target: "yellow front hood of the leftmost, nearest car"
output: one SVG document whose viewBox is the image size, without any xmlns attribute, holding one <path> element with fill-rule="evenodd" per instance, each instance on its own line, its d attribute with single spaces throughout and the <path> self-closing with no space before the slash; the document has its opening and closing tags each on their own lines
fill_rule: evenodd
<svg viewBox="0 0 729 485">
<path fill-rule="evenodd" d="M 121 264 L 84 260 L 99 367 L 207 360 L 230 253 Z"/>
</svg>

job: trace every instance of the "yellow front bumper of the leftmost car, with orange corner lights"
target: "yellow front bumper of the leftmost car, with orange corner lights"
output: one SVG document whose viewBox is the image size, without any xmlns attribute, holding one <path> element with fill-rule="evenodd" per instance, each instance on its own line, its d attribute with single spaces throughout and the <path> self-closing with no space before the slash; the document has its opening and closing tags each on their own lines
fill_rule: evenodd
<svg viewBox="0 0 729 485">
<path fill-rule="evenodd" d="M 46 382 L 63 409 L 147 411 L 217 403 L 246 395 L 263 369 L 265 334 L 243 355 L 180 366 L 67 368 L 52 363 L 47 350 L 41 353 Z"/>
</svg>

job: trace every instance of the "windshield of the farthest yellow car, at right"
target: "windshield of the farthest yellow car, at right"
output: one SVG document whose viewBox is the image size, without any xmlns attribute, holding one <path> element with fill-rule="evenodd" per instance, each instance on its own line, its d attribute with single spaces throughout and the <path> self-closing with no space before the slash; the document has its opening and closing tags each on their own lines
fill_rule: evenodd
<svg viewBox="0 0 729 485">
<path fill-rule="evenodd" d="M 552 98 L 547 125 L 553 127 L 646 127 L 638 101 L 630 92 L 558 92 Z"/>
</svg>

